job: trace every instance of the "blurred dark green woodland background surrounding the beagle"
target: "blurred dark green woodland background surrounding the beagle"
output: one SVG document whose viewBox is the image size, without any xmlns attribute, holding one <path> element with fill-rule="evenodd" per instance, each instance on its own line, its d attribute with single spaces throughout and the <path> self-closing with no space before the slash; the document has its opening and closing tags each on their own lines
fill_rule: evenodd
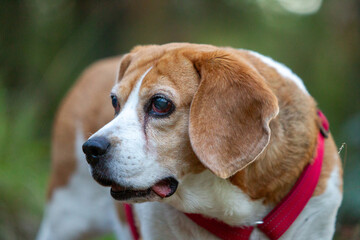
<svg viewBox="0 0 360 240">
<path fill-rule="evenodd" d="M 336 239 L 360 239 L 358 0 L 1 0 L 0 29 L 0 239 L 36 234 L 52 121 L 81 71 L 175 41 L 252 49 L 304 80 L 347 143 Z"/>
</svg>

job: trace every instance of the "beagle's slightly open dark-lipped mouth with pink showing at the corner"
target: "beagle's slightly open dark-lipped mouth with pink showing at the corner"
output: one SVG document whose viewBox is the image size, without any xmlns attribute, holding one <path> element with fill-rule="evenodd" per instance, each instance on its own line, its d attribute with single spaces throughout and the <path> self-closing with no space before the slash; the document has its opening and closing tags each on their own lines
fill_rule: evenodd
<svg viewBox="0 0 360 240">
<path fill-rule="evenodd" d="M 119 201 L 126 201 L 129 199 L 146 198 L 152 193 L 155 193 L 160 198 L 167 198 L 176 192 L 178 181 L 173 177 L 164 178 L 148 189 L 132 189 L 122 187 L 116 184 L 111 184 L 111 196 Z"/>
</svg>

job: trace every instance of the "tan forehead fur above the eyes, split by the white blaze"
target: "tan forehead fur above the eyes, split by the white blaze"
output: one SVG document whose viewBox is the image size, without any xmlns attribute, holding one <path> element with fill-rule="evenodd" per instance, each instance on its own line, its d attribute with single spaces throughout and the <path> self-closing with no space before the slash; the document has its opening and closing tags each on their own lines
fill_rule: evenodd
<svg viewBox="0 0 360 240">
<path fill-rule="evenodd" d="M 125 103 L 141 76 L 151 67 L 151 71 L 142 80 L 140 96 L 149 97 L 160 90 L 172 97 L 180 94 L 182 98 L 186 98 L 185 101 L 189 101 L 198 84 L 197 74 L 192 64 L 185 57 L 179 58 L 177 53 L 176 50 L 164 51 L 161 55 L 152 55 L 153 58 L 148 52 L 137 53 L 122 79 L 114 86 L 113 92 Z"/>
</svg>

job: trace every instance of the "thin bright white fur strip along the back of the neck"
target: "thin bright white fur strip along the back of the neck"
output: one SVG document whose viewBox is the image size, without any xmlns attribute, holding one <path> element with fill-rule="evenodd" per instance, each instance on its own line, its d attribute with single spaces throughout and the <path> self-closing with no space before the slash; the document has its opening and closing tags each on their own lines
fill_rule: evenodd
<svg viewBox="0 0 360 240">
<path fill-rule="evenodd" d="M 309 92 L 306 90 L 306 87 L 303 83 L 303 81 L 295 74 L 293 73 L 288 67 L 286 67 L 284 64 L 279 63 L 275 60 L 273 60 L 270 57 L 261 55 L 260 53 L 254 52 L 254 51 L 249 51 L 247 50 L 249 53 L 251 53 L 252 55 L 254 55 L 257 58 L 260 58 L 260 60 L 266 64 L 268 64 L 269 66 L 275 68 L 275 70 L 283 77 L 285 77 L 286 79 L 290 79 L 291 81 L 293 81 L 304 93 L 306 93 L 307 95 L 309 95 Z"/>
</svg>

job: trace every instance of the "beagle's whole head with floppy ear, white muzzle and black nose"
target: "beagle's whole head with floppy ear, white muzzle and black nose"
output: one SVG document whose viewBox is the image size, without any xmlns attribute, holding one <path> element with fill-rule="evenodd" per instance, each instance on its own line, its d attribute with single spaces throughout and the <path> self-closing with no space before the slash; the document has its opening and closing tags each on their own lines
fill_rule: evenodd
<svg viewBox="0 0 360 240">
<path fill-rule="evenodd" d="M 140 47 L 124 56 L 111 92 L 115 118 L 83 149 L 117 200 L 160 200 L 189 174 L 228 178 L 254 161 L 278 112 L 264 79 L 212 46 Z"/>
</svg>

